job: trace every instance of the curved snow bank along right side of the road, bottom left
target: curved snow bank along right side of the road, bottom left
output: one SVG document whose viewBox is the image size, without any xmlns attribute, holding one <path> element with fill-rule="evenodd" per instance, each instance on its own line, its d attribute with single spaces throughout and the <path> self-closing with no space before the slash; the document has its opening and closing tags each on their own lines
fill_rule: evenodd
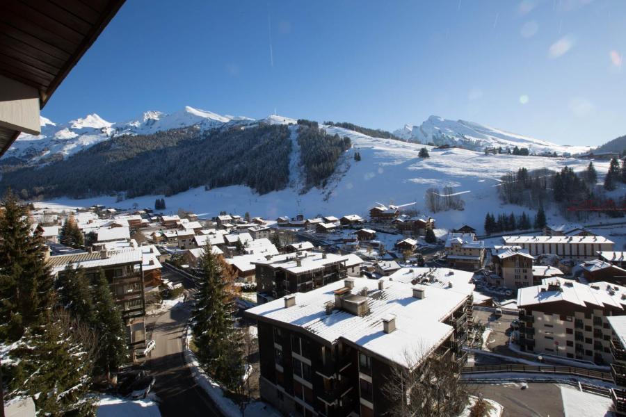
<svg viewBox="0 0 626 417">
<path fill-rule="evenodd" d="M 191 368 L 191 375 L 193 375 L 193 379 L 195 379 L 196 384 L 198 384 L 204 392 L 209 395 L 211 400 L 216 404 L 220 412 L 226 417 L 241 417 L 241 411 L 239 411 L 239 406 L 235 404 L 230 398 L 226 398 L 224 396 L 224 392 L 220 385 L 215 382 L 213 379 L 207 375 L 207 373 L 200 368 L 200 363 L 198 359 L 195 357 L 195 354 L 191 352 L 189 349 L 189 341 L 191 341 L 191 327 L 187 327 L 186 335 L 185 335 L 185 345 L 184 345 L 184 357 L 187 363 L 187 366 Z M 255 401 L 251 404 L 248 404 L 246 407 L 246 417 L 262 417 L 262 416 L 270 416 L 270 417 L 280 417 L 281 414 L 273 409 L 270 405 L 265 404 L 261 401 Z"/>
</svg>

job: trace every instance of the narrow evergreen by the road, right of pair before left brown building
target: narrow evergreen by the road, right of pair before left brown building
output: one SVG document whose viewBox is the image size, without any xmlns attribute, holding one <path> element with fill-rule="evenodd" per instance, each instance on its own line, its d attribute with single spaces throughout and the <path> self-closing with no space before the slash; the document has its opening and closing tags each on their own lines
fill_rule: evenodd
<svg viewBox="0 0 626 417">
<path fill-rule="evenodd" d="M 128 357 L 126 327 L 122 313 L 109 289 L 104 271 L 100 271 L 93 283 L 95 307 L 95 330 L 99 337 L 99 352 L 95 361 L 99 375 L 117 370 Z"/>
</svg>

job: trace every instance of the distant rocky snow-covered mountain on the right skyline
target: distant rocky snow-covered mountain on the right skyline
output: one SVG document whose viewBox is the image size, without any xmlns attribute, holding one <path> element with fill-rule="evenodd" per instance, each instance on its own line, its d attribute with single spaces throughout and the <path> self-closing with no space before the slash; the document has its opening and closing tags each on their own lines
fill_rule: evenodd
<svg viewBox="0 0 626 417">
<path fill-rule="evenodd" d="M 435 145 L 460 145 L 467 149 L 483 150 L 485 147 L 526 147 L 531 153 L 557 152 L 577 154 L 588 152 L 591 147 L 556 145 L 529 136 L 510 133 L 466 120 L 447 120 L 439 116 L 428 117 L 419 126 L 406 124 L 394 131 L 399 138 Z"/>
</svg>

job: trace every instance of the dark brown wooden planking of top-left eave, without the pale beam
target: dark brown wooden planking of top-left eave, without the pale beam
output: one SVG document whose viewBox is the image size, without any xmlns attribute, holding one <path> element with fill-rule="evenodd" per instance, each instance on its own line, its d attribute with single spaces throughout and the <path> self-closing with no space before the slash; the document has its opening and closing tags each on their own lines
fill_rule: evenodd
<svg viewBox="0 0 626 417">
<path fill-rule="evenodd" d="M 0 0 L 0 75 L 36 88 L 43 108 L 124 1 Z"/>
</svg>

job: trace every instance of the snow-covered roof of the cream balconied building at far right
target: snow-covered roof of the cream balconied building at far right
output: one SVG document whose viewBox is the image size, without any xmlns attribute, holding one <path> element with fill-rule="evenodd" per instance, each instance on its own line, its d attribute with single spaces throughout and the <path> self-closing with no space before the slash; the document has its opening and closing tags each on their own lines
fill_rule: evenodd
<svg viewBox="0 0 626 417">
<path fill-rule="evenodd" d="M 626 288 L 616 284 L 595 282 L 586 285 L 558 277 L 545 278 L 541 282 L 541 285 L 519 288 L 517 305 L 524 307 L 551 302 L 569 302 L 584 307 L 612 306 L 623 309 L 626 304 Z M 549 289 L 551 291 L 548 291 Z"/>
</svg>

